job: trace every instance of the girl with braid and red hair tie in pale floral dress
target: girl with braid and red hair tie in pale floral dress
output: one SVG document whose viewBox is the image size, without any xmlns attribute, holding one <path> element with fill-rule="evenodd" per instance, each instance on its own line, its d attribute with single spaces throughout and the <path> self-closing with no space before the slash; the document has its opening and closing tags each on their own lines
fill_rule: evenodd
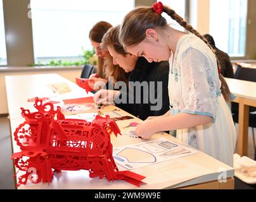
<svg viewBox="0 0 256 202">
<path fill-rule="evenodd" d="M 162 12 L 187 32 L 167 25 Z M 179 140 L 233 166 L 236 131 L 229 110 L 230 92 L 207 40 L 161 2 L 129 12 L 119 39 L 131 54 L 170 64 L 170 111 L 146 119 L 136 128 L 138 136 L 150 139 L 159 131 L 177 130 Z"/>
</svg>

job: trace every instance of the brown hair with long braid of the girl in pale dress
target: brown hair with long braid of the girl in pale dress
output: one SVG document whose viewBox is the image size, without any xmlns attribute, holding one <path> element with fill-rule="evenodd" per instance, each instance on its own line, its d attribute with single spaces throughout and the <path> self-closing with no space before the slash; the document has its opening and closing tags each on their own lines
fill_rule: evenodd
<svg viewBox="0 0 256 202">
<path fill-rule="evenodd" d="M 205 44 L 210 47 L 215 54 L 214 48 L 208 44 L 208 41 L 191 25 L 188 24 L 181 16 L 169 8 L 163 6 L 163 12 L 170 16 L 173 20 L 177 21 L 181 27 L 184 27 L 188 32 L 195 34 L 197 37 L 203 40 Z M 139 7 L 130 11 L 122 21 L 120 25 L 119 40 L 125 47 L 137 45 L 146 38 L 146 30 L 149 28 L 165 28 L 167 27 L 167 21 L 162 15 L 158 15 L 152 7 Z M 219 61 L 217 60 L 219 66 Z M 231 103 L 231 93 L 221 73 L 219 73 L 219 79 L 221 80 L 221 91 L 226 102 Z"/>
</svg>

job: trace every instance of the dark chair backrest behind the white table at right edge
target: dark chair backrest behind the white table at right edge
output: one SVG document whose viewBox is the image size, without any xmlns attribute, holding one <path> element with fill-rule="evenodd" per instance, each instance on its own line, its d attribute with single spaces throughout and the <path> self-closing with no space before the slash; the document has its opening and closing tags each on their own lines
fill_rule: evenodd
<svg viewBox="0 0 256 202">
<path fill-rule="evenodd" d="M 234 73 L 234 78 L 237 80 L 256 82 L 256 69 L 243 68 L 241 65 L 238 65 L 238 69 L 236 69 L 236 73 Z"/>
</svg>

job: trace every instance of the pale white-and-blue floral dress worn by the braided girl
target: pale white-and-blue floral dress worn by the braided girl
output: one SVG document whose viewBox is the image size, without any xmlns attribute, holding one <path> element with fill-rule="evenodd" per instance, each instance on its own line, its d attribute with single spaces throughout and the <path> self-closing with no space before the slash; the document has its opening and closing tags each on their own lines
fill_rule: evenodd
<svg viewBox="0 0 256 202">
<path fill-rule="evenodd" d="M 205 126 L 177 130 L 177 138 L 222 162 L 233 165 L 236 132 L 229 107 L 221 95 L 221 81 L 214 53 L 196 35 L 187 34 L 179 39 L 169 62 L 171 116 L 183 112 L 213 118 L 212 123 Z M 226 124 L 227 130 L 223 124 Z M 222 146 L 223 141 L 230 141 L 226 145 L 229 146 L 227 157 L 217 149 Z M 222 148 L 220 151 L 224 152 Z"/>
</svg>

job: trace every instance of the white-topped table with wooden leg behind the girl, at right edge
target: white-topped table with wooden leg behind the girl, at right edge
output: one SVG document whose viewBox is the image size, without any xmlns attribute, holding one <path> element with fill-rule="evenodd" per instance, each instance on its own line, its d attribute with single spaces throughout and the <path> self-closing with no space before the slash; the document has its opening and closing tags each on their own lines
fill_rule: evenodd
<svg viewBox="0 0 256 202">
<path fill-rule="evenodd" d="M 238 154 L 246 156 L 248 153 L 249 107 L 256 107 L 256 82 L 225 79 L 231 93 L 236 96 L 233 102 L 239 104 Z"/>
</svg>

